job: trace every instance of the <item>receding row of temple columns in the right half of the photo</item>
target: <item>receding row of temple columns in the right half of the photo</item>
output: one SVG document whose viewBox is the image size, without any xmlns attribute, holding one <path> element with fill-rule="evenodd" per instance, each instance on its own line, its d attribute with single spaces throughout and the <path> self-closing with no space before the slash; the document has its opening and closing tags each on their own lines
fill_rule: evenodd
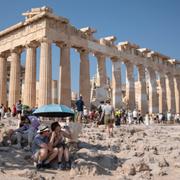
<svg viewBox="0 0 180 180">
<path fill-rule="evenodd" d="M 98 76 L 100 78 L 100 86 L 105 82 L 105 57 L 97 56 L 98 59 Z M 112 103 L 114 107 L 122 106 L 122 86 L 121 86 L 121 61 L 111 59 L 112 61 Z M 133 110 L 138 108 L 142 114 L 162 113 L 171 111 L 172 113 L 180 112 L 180 76 L 159 73 L 159 86 L 157 84 L 156 72 L 148 68 L 149 78 L 146 79 L 145 67 L 138 65 L 138 87 L 139 99 L 135 100 L 135 81 L 133 75 L 134 65 L 124 62 L 126 65 L 126 101 L 128 108 Z M 149 92 L 147 93 L 147 85 Z M 159 90 L 157 90 L 159 88 Z M 159 93 L 158 93 L 159 92 Z"/>
</svg>

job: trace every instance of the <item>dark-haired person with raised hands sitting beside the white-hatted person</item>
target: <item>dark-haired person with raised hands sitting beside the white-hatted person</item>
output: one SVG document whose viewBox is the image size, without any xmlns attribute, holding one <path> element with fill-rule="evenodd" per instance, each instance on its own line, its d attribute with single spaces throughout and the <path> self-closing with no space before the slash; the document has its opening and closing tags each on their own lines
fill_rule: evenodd
<svg viewBox="0 0 180 180">
<path fill-rule="evenodd" d="M 65 138 L 71 138 L 71 133 L 68 127 L 65 127 L 66 130 L 62 130 L 58 122 L 53 122 L 51 124 L 51 140 L 50 143 L 53 147 L 58 148 L 58 168 L 60 170 L 70 169 L 70 159 L 69 159 L 69 149 L 65 143 Z M 65 162 L 62 162 L 62 160 Z"/>
</svg>

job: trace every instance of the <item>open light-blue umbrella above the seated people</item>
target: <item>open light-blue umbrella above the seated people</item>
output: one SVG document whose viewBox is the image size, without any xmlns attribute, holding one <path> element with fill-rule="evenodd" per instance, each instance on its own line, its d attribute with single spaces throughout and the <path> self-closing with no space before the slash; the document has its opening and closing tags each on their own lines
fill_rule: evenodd
<svg viewBox="0 0 180 180">
<path fill-rule="evenodd" d="M 33 112 L 34 115 L 43 117 L 68 117 L 74 116 L 74 112 L 65 105 L 47 104 Z"/>
</svg>

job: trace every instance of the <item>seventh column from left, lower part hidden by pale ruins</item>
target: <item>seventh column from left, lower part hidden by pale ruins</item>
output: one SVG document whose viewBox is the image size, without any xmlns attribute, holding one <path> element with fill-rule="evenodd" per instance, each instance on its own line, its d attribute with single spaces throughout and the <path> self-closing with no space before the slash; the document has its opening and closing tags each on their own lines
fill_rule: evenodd
<svg viewBox="0 0 180 180">
<path fill-rule="evenodd" d="M 106 85 L 106 57 L 102 54 L 96 54 L 97 57 L 97 85 L 104 87 Z"/>
</svg>

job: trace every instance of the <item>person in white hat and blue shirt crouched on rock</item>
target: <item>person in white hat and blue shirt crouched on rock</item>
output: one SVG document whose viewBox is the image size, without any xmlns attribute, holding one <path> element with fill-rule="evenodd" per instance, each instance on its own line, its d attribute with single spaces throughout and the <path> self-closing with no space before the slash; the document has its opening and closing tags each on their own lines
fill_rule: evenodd
<svg viewBox="0 0 180 180">
<path fill-rule="evenodd" d="M 33 158 L 37 163 L 36 168 L 50 168 L 50 162 L 57 157 L 58 149 L 53 148 L 50 143 L 48 126 L 39 126 L 37 133 L 32 144 Z"/>
</svg>

